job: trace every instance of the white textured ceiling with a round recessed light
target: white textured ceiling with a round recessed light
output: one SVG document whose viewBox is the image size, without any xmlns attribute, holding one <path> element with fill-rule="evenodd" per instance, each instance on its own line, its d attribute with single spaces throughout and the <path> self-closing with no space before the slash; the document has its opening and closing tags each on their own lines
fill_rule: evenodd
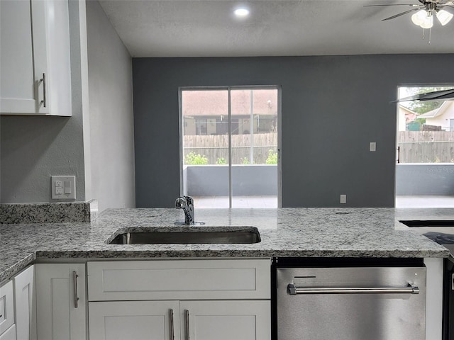
<svg viewBox="0 0 454 340">
<path fill-rule="evenodd" d="M 442 0 L 445 2 L 445 0 Z M 418 0 L 100 0 L 133 57 L 253 57 L 454 53 L 454 20 L 429 30 L 411 13 Z M 238 20 L 233 9 L 250 9 Z M 454 13 L 454 8 L 445 8 Z"/>
</svg>

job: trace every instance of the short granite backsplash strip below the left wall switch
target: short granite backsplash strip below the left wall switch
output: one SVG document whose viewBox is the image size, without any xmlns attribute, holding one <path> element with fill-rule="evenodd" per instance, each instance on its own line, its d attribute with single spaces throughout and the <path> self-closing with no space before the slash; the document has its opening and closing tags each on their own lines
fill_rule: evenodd
<svg viewBox="0 0 454 340">
<path fill-rule="evenodd" d="M 98 202 L 0 204 L 0 223 L 91 222 L 96 220 Z"/>
</svg>

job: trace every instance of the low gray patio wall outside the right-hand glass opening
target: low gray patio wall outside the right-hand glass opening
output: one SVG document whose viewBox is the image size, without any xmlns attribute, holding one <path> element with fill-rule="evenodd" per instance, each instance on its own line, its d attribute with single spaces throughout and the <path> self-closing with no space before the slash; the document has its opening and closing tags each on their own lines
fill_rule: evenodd
<svg viewBox="0 0 454 340">
<path fill-rule="evenodd" d="M 397 164 L 396 195 L 454 196 L 454 163 Z"/>
</svg>

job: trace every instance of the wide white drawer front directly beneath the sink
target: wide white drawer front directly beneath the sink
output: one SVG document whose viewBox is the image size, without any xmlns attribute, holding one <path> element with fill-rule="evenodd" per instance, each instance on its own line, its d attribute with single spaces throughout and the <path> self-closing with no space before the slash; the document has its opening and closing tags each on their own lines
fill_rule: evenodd
<svg viewBox="0 0 454 340">
<path fill-rule="evenodd" d="M 270 260 L 94 261 L 89 301 L 269 299 Z"/>
</svg>

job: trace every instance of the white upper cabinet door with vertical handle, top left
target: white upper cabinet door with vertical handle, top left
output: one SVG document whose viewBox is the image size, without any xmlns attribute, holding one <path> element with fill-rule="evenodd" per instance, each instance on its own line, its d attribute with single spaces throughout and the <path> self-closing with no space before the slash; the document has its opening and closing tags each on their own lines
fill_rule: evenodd
<svg viewBox="0 0 454 340">
<path fill-rule="evenodd" d="M 0 16 L 1 112 L 48 113 L 45 2 L 1 0 Z"/>
</svg>

